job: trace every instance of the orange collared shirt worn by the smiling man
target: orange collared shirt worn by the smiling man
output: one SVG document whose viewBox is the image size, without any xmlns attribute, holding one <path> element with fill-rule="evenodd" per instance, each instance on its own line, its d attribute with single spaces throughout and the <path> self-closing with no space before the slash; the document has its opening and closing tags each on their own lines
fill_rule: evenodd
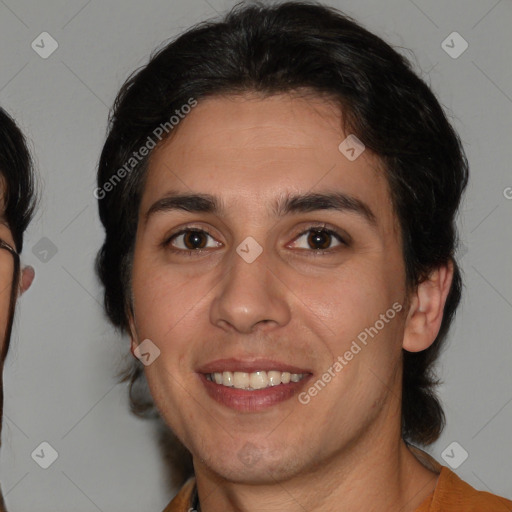
<svg viewBox="0 0 512 512">
<path fill-rule="evenodd" d="M 409 449 L 421 462 L 439 473 L 434 491 L 415 512 L 512 512 L 512 501 L 477 491 L 427 453 L 413 446 Z M 195 479 L 190 478 L 164 512 L 192 512 L 194 490 Z"/>
</svg>

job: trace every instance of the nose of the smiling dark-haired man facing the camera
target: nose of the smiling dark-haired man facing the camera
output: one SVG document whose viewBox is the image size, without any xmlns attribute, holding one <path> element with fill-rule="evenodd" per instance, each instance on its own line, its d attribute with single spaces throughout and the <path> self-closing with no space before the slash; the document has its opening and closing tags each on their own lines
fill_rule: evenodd
<svg viewBox="0 0 512 512">
<path fill-rule="evenodd" d="M 211 322 L 225 330 L 268 331 L 290 321 L 288 288 L 265 250 L 251 263 L 233 251 L 211 303 Z"/>
</svg>

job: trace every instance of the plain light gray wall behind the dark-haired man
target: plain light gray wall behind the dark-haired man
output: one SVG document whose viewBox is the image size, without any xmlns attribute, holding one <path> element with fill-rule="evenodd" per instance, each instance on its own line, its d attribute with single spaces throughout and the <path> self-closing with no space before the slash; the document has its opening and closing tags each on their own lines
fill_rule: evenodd
<svg viewBox="0 0 512 512">
<path fill-rule="evenodd" d="M 103 237 L 95 167 L 128 74 L 164 40 L 234 3 L 0 0 L 0 104 L 29 137 L 43 185 L 23 255 L 36 280 L 21 300 L 5 369 L 0 471 L 12 511 L 157 511 L 173 493 L 151 422 L 129 413 L 126 387 L 116 384 L 131 355 L 103 316 L 93 273 Z M 469 457 L 456 472 L 512 498 L 512 3 L 329 4 L 413 50 L 465 144 L 466 291 L 439 365 L 448 426 L 429 451 L 446 464 L 441 454 L 457 441 Z M 59 45 L 48 59 L 31 48 L 44 31 Z M 441 47 L 453 31 L 469 43 L 456 59 Z M 57 249 L 47 261 L 43 237 Z M 46 470 L 31 458 L 43 441 L 59 454 Z"/>
</svg>

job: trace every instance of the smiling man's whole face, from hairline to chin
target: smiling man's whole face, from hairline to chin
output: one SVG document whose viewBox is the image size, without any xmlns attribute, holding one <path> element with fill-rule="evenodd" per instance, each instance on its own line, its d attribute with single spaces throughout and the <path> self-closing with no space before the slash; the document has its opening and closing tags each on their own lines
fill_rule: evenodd
<svg viewBox="0 0 512 512">
<path fill-rule="evenodd" d="M 132 348 L 160 350 L 148 383 L 196 471 L 272 482 L 399 435 L 405 310 L 389 310 L 405 271 L 378 161 L 338 149 L 348 134 L 321 98 L 210 98 L 176 130 L 142 197 Z M 222 210 L 172 208 L 171 194 L 209 194 Z M 306 194 L 345 200 L 275 211 Z"/>
</svg>

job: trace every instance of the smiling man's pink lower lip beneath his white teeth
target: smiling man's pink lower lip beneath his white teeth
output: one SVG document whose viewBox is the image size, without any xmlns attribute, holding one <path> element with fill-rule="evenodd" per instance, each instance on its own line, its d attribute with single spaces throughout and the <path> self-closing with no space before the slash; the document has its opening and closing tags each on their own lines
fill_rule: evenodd
<svg viewBox="0 0 512 512">
<path fill-rule="evenodd" d="M 217 384 L 208 380 L 202 373 L 199 377 L 210 397 L 220 404 L 240 412 L 259 412 L 292 398 L 304 387 L 311 375 L 306 375 L 299 382 L 279 384 L 253 391 Z"/>
</svg>

